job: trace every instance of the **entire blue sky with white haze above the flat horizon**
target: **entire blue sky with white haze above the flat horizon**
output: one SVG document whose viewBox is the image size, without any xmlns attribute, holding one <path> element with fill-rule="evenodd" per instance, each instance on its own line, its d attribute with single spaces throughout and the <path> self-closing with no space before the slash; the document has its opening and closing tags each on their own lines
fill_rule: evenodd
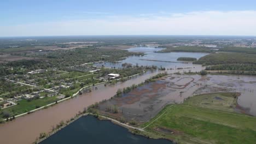
<svg viewBox="0 0 256 144">
<path fill-rule="evenodd" d="M 256 29 L 252 27 L 255 22 L 252 19 L 255 19 L 254 16 L 256 16 L 256 1 L 253 0 L 5 0 L 1 1 L 0 5 L 0 31 L 2 31 L 0 36 L 2 37 L 98 34 L 256 35 Z M 190 17 L 194 17 L 194 20 Z M 245 24 L 238 23 L 239 25 L 231 28 L 225 24 L 223 26 L 212 25 L 212 23 L 218 22 L 237 22 L 236 19 L 241 19 Z M 195 23 L 195 21 L 199 21 L 201 24 Z M 183 25 L 183 22 L 191 22 L 194 27 L 189 29 L 187 28 L 189 25 Z M 168 26 L 168 23 L 172 25 Z M 84 24 L 86 27 L 83 27 Z M 196 25 L 202 25 L 203 29 L 200 29 L 201 26 L 195 27 Z M 166 32 L 164 29 L 158 31 L 158 26 L 165 28 Z M 178 27 L 175 28 L 176 26 Z M 217 32 L 211 27 L 215 27 L 216 30 L 220 28 L 220 30 Z M 225 27 L 227 29 L 224 29 Z M 252 27 L 251 31 L 248 27 Z M 243 28 L 244 31 L 240 28 Z M 179 29 L 180 31 L 177 31 Z M 239 29 L 239 31 L 233 32 L 235 29 Z"/>
</svg>

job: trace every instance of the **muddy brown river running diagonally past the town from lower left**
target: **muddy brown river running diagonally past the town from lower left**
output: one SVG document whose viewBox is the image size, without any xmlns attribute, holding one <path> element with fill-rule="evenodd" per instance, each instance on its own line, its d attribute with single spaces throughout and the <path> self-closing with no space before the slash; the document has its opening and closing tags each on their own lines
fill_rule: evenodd
<svg viewBox="0 0 256 144">
<path fill-rule="evenodd" d="M 201 65 L 193 65 L 191 71 L 200 71 Z M 189 69 L 168 70 L 168 73 L 180 71 L 188 71 Z M 161 71 L 160 71 L 161 72 Z M 98 89 L 92 88 L 92 92 L 78 95 L 73 99 L 69 99 L 51 106 L 48 109 L 39 110 L 29 115 L 18 117 L 14 121 L 0 124 L 0 141 L 1 143 L 32 143 L 40 133 L 51 131 L 51 127 L 61 121 L 66 121 L 75 116 L 79 111 L 83 111 L 87 107 L 104 99 L 109 99 L 117 92 L 119 88 L 138 84 L 148 79 L 150 76 L 156 75 L 159 71 L 146 73 L 136 76 L 126 82 L 119 82 L 114 86 L 97 85 Z"/>
</svg>

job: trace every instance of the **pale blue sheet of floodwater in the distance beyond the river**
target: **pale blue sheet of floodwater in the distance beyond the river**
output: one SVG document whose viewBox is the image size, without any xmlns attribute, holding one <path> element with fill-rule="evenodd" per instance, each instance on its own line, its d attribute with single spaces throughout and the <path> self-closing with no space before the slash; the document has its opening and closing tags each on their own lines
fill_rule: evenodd
<svg viewBox="0 0 256 144">
<path fill-rule="evenodd" d="M 154 48 L 154 47 L 133 47 L 127 49 L 130 52 L 144 52 L 146 55 L 144 56 L 130 56 L 126 59 L 119 61 L 118 63 L 96 63 L 95 66 L 101 67 L 104 65 L 105 67 L 109 68 L 121 68 L 123 63 L 131 63 L 132 65 L 156 65 L 158 67 L 166 67 L 166 68 L 178 68 L 178 67 L 187 67 L 192 66 L 194 64 L 190 63 L 183 63 L 181 61 L 177 61 L 179 57 L 194 57 L 199 59 L 208 53 L 201 53 L 201 52 L 168 52 L 168 53 L 158 53 L 156 51 L 162 50 L 162 48 Z M 150 61 L 148 61 L 150 60 Z M 153 61 L 152 61 L 153 60 Z M 165 62 L 161 62 L 165 61 Z"/>
</svg>

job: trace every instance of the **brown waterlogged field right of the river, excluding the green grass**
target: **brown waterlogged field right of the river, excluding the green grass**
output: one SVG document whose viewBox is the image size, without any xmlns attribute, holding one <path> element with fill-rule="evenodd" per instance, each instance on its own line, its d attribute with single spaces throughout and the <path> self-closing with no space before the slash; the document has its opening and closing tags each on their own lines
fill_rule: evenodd
<svg viewBox="0 0 256 144">
<path fill-rule="evenodd" d="M 100 104 L 102 114 L 124 117 L 128 121 L 149 121 L 167 104 L 180 104 L 196 94 L 217 92 L 239 92 L 238 105 L 234 112 L 256 116 L 255 76 L 225 75 L 168 75 L 156 82 L 148 83 L 132 92 L 115 97 Z M 221 100 L 221 99 L 219 99 Z M 119 112 L 107 111 L 107 107 L 118 106 Z"/>
</svg>

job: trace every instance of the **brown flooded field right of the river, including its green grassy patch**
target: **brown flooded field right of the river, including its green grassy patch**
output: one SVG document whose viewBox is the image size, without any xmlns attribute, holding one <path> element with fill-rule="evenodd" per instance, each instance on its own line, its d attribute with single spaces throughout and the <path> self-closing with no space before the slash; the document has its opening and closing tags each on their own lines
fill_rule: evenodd
<svg viewBox="0 0 256 144">
<path fill-rule="evenodd" d="M 168 104 L 199 106 L 227 112 L 256 115 L 253 76 L 233 75 L 168 75 L 103 101 L 97 107 L 101 115 L 127 122 L 143 123 L 156 116 Z M 234 94 L 216 94 L 234 92 Z M 193 95 L 200 95 L 193 97 Z M 212 94 L 209 94 L 212 93 Z M 116 109 L 117 111 L 109 111 Z"/>
</svg>

